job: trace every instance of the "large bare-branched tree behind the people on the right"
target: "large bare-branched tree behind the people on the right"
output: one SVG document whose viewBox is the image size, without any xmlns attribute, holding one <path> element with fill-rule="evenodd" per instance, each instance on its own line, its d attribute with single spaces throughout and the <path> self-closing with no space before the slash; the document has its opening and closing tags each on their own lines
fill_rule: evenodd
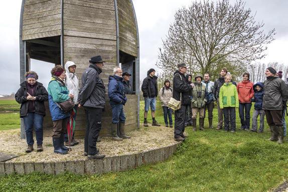
<svg viewBox="0 0 288 192">
<path fill-rule="evenodd" d="M 190 73 L 214 73 L 227 62 L 235 72 L 246 70 L 248 63 L 265 56 L 263 51 L 273 41 L 275 30 L 264 34 L 264 24 L 256 23 L 244 5 L 241 0 L 234 5 L 229 0 L 204 1 L 178 10 L 157 66 L 169 75 L 181 62 L 188 64 Z"/>
</svg>

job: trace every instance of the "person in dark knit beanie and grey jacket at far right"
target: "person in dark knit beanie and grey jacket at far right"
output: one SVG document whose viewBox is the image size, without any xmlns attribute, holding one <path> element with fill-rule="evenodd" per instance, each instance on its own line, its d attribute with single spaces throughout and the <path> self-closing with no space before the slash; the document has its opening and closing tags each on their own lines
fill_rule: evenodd
<svg viewBox="0 0 288 192">
<path fill-rule="evenodd" d="M 282 144 L 284 137 L 282 109 L 286 107 L 288 87 L 285 82 L 276 75 L 276 71 L 272 67 L 266 69 L 265 75 L 267 79 L 264 81 L 262 108 L 265 111 L 266 121 L 271 131 L 269 140 Z"/>
</svg>

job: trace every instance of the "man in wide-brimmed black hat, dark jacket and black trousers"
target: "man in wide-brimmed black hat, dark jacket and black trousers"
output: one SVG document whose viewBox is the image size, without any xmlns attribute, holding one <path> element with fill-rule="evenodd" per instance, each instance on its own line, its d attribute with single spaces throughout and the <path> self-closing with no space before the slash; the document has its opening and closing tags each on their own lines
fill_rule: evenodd
<svg viewBox="0 0 288 192">
<path fill-rule="evenodd" d="M 84 139 L 84 155 L 88 159 L 103 158 L 96 148 L 96 141 L 101 130 L 102 111 L 105 106 L 105 86 L 100 73 L 104 66 L 101 56 L 92 57 L 89 67 L 82 75 L 82 90 L 79 94 L 80 106 L 83 106 L 87 118 Z"/>
</svg>

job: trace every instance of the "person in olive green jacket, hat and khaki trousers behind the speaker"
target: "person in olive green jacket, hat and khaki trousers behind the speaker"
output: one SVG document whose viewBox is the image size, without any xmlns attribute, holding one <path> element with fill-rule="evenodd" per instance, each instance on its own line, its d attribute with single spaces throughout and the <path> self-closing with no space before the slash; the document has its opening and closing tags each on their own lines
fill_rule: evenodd
<svg viewBox="0 0 288 192">
<path fill-rule="evenodd" d="M 199 129 L 204 130 L 204 107 L 207 102 L 205 97 L 206 85 L 202 83 L 202 76 L 197 74 L 195 77 L 195 87 L 192 91 L 192 122 L 193 131 L 196 131 L 197 114 L 199 113 Z"/>
</svg>

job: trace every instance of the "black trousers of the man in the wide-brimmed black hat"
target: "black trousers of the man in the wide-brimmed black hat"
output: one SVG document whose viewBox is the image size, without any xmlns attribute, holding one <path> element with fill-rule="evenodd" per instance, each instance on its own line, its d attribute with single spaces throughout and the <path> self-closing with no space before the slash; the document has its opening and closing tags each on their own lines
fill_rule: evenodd
<svg viewBox="0 0 288 192">
<path fill-rule="evenodd" d="M 84 138 L 84 151 L 88 155 L 97 153 L 96 141 L 101 130 L 102 108 L 84 107 L 86 113 L 86 132 Z"/>
</svg>

